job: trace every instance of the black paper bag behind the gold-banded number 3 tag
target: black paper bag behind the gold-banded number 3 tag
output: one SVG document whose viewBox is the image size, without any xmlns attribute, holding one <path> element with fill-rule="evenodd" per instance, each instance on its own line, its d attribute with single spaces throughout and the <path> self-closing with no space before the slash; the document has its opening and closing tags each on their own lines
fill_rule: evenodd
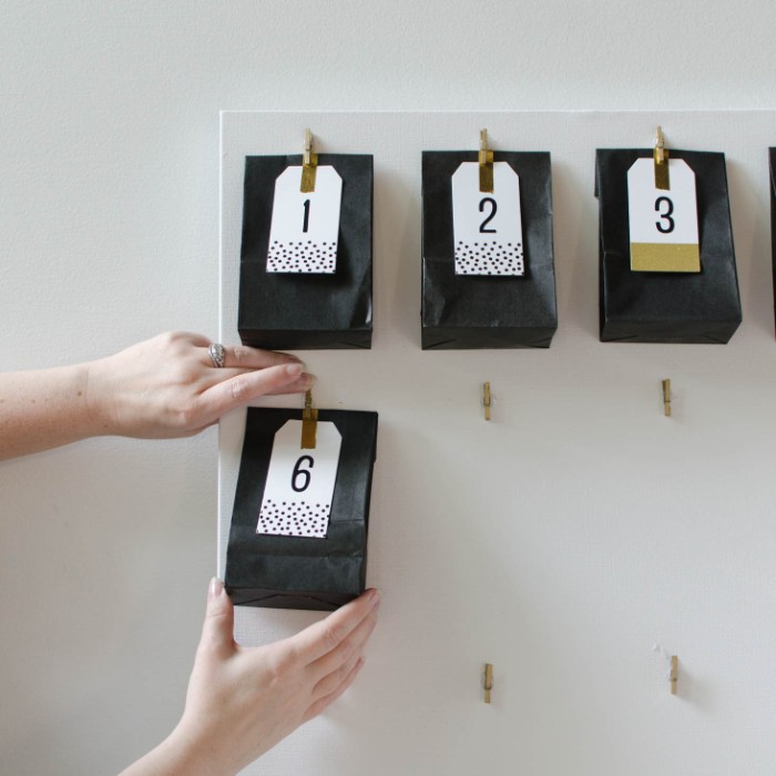
<svg viewBox="0 0 776 776">
<path fill-rule="evenodd" d="M 599 149 L 601 341 L 727 343 L 742 319 L 725 154 L 675 151 L 695 173 L 700 273 L 632 272 L 627 171 L 651 149 Z"/>
</svg>

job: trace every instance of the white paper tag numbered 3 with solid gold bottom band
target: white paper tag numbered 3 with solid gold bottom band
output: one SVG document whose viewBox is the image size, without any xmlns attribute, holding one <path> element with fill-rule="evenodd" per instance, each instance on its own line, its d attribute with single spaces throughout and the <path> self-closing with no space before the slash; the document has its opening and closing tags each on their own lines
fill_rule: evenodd
<svg viewBox="0 0 776 776">
<path fill-rule="evenodd" d="M 631 269 L 701 272 L 695 173 L 683 159 L 668 160 L 671 190 L 655 188 L 654 161 L 627 171 Z"/>
</svg>

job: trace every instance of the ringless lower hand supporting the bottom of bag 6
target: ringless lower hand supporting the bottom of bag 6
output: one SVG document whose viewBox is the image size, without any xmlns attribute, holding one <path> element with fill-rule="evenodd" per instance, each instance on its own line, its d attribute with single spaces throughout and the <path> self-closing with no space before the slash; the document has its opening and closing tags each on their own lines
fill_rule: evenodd
<svg viewBox="0 0 776 776">
<path fill-rule="evenodd" d="M 242 647 L 232 601 L 213 580 L 181 723 L 123 776 L 236 774 L 350 686 L 378 605 L 368 590 L 290 639 Z"/>
</svg>

